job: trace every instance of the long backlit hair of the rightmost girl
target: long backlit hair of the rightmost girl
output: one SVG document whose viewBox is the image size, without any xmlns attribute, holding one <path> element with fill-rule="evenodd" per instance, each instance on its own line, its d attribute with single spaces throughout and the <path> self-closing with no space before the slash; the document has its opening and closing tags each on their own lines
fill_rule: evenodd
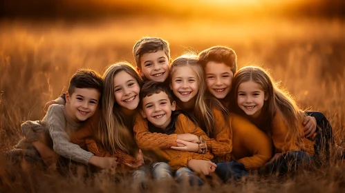
<svg viewBox="0 0 345 193">
<path fill-rule="evenodd" d="M 272 80 L 268 72 L 263 70 L 263 68 L 257 66 L 246 66 L 241 68 L 235 74 L 232 81 L 235 99 L 233 103 L 237 103 L 239 85 L 247 81 L 254 81 L 263 90 L 265 96 L 268 96 L 267 101 L 263 103 L 263 108 L 261 110 L 263 117 L 258 127 L 265 132 L 271 132 L 270 125 L 272 124 L 274 114 L 280 112 L 283 121 L 288 125 L 288 128 L 291 129 L 291 134 L 299 135 L 299 128 L 306 115 L 297 107 L 290 94 L 279 89 L 277 83 L 274 83 Z M 238 105 L 236 105 L 236 110 L 242 112 Z"/>
</svg>

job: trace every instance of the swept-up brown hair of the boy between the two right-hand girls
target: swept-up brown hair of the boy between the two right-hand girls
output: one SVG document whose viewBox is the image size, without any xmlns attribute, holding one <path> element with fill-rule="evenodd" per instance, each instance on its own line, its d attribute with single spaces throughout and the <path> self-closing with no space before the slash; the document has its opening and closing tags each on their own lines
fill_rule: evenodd
<svg viewBox="0 0 345 193">
<path fill-rule="evenodd" d="M 214 46 L 206 50 L 201 51 L 198 54 L 199 60 L 203 68 L 205 69 L 209 61 L 217 63 L 225 63 L 225 65 L 231 68 L 232 73 L 236 73 L 237 70 L 237 56 L 234 50 L 225 46 Z"/>
</svg>

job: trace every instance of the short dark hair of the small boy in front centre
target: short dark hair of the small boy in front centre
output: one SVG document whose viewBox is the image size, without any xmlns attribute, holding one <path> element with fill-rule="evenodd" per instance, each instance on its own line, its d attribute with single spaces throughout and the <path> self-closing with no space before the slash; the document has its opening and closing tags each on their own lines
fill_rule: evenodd
<svg viewBox="0 0 345 193">
<path fill-rule="evenodd" d="M 157 82 L 157 81 L 147 81 L 142 85 L 140 88 L 140 108 L 142 108 L 142 99 L 146 96 L 152 96 L 153 94 L 159 94 L 160 92 L 165 92 L 165 94 L 168 95 L 170 103 L 174 101 L 174 97 L 171 94 L 171 91 L 169 89 L 169 86 L 167 86 L 165 83 Z"/>
</svg>

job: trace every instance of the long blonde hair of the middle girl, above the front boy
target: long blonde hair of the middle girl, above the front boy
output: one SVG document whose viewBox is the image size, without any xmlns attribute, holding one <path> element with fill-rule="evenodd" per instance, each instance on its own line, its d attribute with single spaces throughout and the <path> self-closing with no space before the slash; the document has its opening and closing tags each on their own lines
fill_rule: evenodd
<svg viewBox="0 0 345 193">
<path fill-rule="evenodd" d="M 192 114 L 195 121 L 205 130 L 208 136 L 214 132 L 214 114 L 212 113 L 213 102 L 217 103 L 211 96 L 206 95 L 206 84 L 204 80 L 203 67 L 198 61 L 195 54 L 184 54 L 171 63 L 170 77 L 176 72 L 177 68 L 189 67 L 196 72 L 198 81 L 198 92 L 196 94 L 196 103 L 194 113 Z M 220 102 L 218 102 L 220 104 Z M 223 106 L 223 105 L 221 105 Z M 225 108 L 224 108 L 225 110 Z"/>
</svg>

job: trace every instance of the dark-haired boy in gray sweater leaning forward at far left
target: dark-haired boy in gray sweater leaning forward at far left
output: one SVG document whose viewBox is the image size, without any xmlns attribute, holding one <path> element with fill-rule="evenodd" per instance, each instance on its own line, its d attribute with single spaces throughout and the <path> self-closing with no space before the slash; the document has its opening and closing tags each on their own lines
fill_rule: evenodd
<svg viewBox="0 0 345 193">
<path fill-rule="evenodd" d="M 70 136 L 82 128 L 86 119 L 97 111 L 102 90 L 100 74 L 93 70 L 78 70 L 70 80 L 66 105 L 50 105 L 42 121 L 26 121 L 21 124 L 26 139 L 20 141 L 16 148 L 32 149 L 33 146 L 47 166 L 55 165 L 58 156 L 62 156 L 102 169 L 115 167 L 116 159 L 94 156 L 70 142 Z"/>
</svg>

